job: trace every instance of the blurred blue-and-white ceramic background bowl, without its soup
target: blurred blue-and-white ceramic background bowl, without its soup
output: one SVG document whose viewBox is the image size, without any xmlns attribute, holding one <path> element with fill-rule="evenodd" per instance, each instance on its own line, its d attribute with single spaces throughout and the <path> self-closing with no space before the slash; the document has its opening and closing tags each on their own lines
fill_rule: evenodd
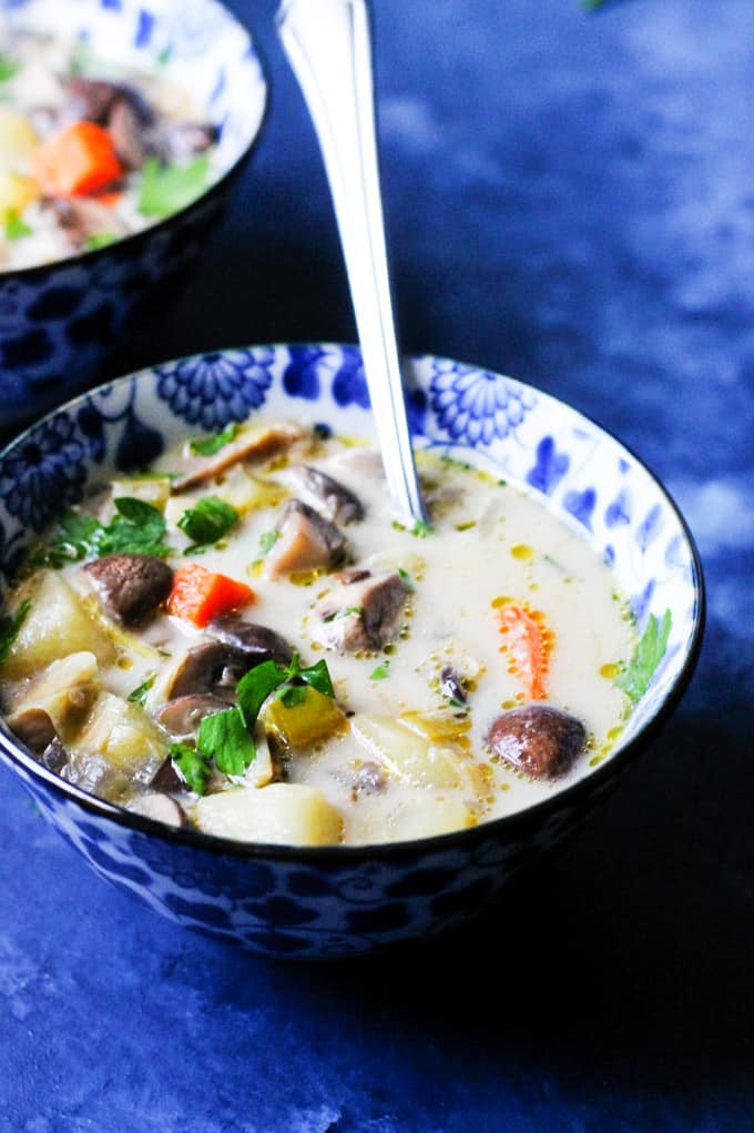
<svg viewBox="0 0 754 1133">
<path fill-rule="evenodd" d="M 266 84 L 245 28 L 217 0 L 0 0 L 0 23 L 80 40 L 190 86 L 217 127 L 220 176 L 192 204 L 115 244 L 0 272 L 0 431 L 97 378 L 113 346 L 164 309 L 251 152 Z"/>
</svg>

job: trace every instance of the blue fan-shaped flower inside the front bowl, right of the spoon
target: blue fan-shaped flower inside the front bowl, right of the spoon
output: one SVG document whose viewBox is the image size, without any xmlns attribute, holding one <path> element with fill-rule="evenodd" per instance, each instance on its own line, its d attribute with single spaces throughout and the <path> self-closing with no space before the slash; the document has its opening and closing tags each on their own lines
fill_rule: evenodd
<svg viewBox="0 0 754 1133">
<path fill-rule="evenodd" d="M 537 402 L 524 390 L 503 377 L 471 366 L 436 359 L 429 398 L 438 424 L 454 441 L 491 444 L 521 425 Z"/>
</svg>

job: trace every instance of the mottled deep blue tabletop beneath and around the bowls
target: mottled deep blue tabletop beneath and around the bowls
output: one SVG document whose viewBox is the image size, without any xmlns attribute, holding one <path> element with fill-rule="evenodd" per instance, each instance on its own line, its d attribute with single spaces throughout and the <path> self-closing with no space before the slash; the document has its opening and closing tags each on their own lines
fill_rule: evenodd
<svg viewBox="0 0 754 1133">
<path fill-rule="evenodd" d="M 200 271 L 118 369 L 353 341 L 269 0 L 273 87 Z M 754 1130 L 754 3 L 375 0 L 403 346 L 594 417 L 709 587 L 671 722 L 583 833 L 432 945 L 323 965 L 97 880 L 0 774 L 0 1133 Z"/>
</svg>

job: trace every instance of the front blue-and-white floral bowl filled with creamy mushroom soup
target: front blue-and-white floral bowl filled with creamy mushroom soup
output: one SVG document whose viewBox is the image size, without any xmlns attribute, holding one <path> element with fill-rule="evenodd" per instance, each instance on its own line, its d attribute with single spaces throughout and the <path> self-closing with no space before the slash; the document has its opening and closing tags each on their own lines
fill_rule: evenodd
<svg viewBox="0 0 754 1133">
<path fill-rule="evenodd" d="M 509 377 L 405 378 L 410 528 L 349 346 L 160 365 L 0 457 L 0 757 L 100 876 L 251 951 L 499 900 L 696 661 L 699 559 L 636 457 Z"/>
</svg>

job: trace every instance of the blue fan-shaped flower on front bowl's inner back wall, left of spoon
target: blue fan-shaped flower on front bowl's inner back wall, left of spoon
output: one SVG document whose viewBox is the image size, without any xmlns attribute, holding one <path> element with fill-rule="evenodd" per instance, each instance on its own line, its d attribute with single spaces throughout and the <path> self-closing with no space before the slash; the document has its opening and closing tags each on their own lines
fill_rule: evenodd
<svg viewBox="0 0 754 1133">
<path fill-rule="evenodd" d="M 273 360 L 272 347 L 183 358 L 157 367 L 157 395 L 189 425 L 214 432 L 259 408 L 272 384 Z"/>
</svg>

